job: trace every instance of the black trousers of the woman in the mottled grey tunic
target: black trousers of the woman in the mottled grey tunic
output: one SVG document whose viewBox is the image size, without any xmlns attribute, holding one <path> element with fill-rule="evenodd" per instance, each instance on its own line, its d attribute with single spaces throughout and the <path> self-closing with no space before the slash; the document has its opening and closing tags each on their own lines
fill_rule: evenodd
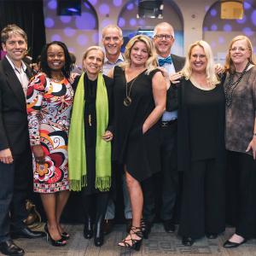
<svg viewBox="0 0 256 256">
<path fill-rule="evenodd" d="M 249 154 L 227 155 L 227 212 L 236 213 L 236 234 L 251 238 L 256 236 L 256 161 Z"/>
</svg>

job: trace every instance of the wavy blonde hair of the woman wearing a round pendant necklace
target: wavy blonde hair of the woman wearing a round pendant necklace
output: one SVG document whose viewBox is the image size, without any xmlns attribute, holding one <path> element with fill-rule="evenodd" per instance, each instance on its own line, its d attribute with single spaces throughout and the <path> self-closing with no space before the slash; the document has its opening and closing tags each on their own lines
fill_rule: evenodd
<svg viewBox="0 0 256 256">
<path fill-rule="evenodd" d="M 145 35 L 137 35 L 130 39 L 130 41 L 125 46 L 125 61 L 121 63 L 119 66 L 123 69 L 131 66 L 131 49 L 137 42 L 143 42 L 144 44 L 146 44 L 148 50 L 148 60 L 145 63 L 145 67 L 147 68 L 146 73 L 148 74 L 152 70 L 154 70 L 158 66 L 158 64 L 152 40 L 151 38 L 148 38 L 148 36 Z"/>
</svg>

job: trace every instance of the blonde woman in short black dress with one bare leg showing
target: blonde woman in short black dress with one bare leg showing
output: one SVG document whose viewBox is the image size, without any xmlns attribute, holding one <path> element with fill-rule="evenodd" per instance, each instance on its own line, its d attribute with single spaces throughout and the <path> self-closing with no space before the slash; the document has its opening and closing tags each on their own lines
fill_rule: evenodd
<svg viewBox="0 0 256 256">
<path fill-rule="evenodd" d="M 160 126 L 166 106 L 166 80 L 157 68 L 151 39 L 138 35 L 125 47 L 125 62 L 114 67 L 115 135 L 113 158 L 125 166 L 132 227 L 119 246 L 139 249 L 143 191 L 140 182 L 159 171 Z"/>
</svg>

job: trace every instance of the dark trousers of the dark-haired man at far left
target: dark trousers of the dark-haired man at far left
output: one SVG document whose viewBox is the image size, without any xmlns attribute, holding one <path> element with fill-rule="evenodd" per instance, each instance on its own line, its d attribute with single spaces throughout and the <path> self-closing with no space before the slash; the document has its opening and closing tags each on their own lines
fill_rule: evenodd
<svg viewBox="0 0 256 256">
<path fill-rule="evenodd" d="M 20 230 L 27 217 L 25 201 L 32 190 L 32 154 L 29 148 L 14 156 L 12 164 L 0 162 L 0 241 L 9 239 L 9 230 Z"/>
</svg>

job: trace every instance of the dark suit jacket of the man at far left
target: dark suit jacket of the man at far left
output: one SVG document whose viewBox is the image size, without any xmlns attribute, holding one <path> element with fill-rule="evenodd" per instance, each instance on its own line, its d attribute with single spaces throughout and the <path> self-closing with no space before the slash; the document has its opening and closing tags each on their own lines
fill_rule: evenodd
<svg viewBox="0 0 256 256">
<path fill-rule="evenodd" d="M 31 78 L 31 68 L 26 68 Z M 21 154 L 29 145 L 26 97 L 15 71 L 4 58 L 0 61 L 0 150 Z"/>
</svg>

